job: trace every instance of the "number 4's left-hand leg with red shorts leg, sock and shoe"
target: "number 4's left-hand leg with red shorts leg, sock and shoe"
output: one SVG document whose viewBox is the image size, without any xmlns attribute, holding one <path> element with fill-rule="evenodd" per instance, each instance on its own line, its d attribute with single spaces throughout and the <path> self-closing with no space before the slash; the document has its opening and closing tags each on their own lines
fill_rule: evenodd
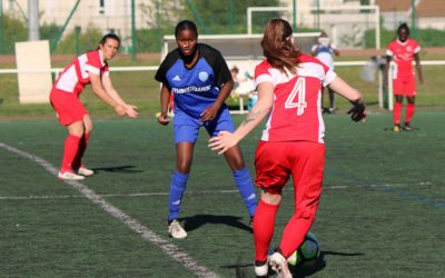
<svg viewBox="0 0 445 278">
<path fill-rule="evenodd" d="M 260 141 L 255 153 L 257 173 L 255 183 L 261 188 L 261 199 L 254 218 L 255 270 L 257 275 L 265 270 L 267 249 L 274 236 L 276 214 L 281 201 L 281 190 L 289 178 L 290 165 L 286 159 L 287 153 L 284 148 L 281 142 Z"/>
</svg>

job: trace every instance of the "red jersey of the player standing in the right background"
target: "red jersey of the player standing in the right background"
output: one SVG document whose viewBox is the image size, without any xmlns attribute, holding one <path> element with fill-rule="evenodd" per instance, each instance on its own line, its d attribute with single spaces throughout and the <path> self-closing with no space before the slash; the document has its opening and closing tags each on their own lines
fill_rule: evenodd
<svg viewBox="0 0 445 278">
<path fill-rule="evenodd" d="M 389 43 L 386 54 L 393 57 L 396 63 L 394 79 L 411 79 L 414 77 L 414 54 L 421 51 L 417 41 L 407 39 L 405 42 L 394 40 Z"/>
</svg>

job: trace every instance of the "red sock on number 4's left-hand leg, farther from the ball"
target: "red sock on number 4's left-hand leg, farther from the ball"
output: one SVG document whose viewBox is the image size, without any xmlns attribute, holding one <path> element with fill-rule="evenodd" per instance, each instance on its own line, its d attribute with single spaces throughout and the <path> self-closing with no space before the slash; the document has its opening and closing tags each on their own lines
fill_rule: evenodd
<svg viewBox="0 0 445 278">
<path fill-rule="evenodd" d="M 259 200 L 254 216 L 255 260 L 267 260 L 267 248 L 269 248 L 274 236 L 275 216 L 278 208 L 279 205 L 270 205 Z"/>
</svg>

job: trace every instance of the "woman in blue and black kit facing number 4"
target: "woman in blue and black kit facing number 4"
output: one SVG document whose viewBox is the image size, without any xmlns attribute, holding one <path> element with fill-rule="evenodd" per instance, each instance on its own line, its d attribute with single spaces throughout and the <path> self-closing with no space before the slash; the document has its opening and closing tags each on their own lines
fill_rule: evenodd
<svg viewBox="0 0 445 278">
<path fill-rule="evenodd" d="M 180 21 L 176 26 L 175 37 L 178 48 L 167 54 L 155 78 L 162 83 L 160 125 L 169 123 L 168 103 L 170 93 L 175 96 L 176 170 L 170 182 L 167 220 L 170 236 L 185 238 L 187 232 L 177 218 L 190 173 L 195 142 L 200 127 L 205 127 L 210 137 L 221 130 L 235 130 L 225 105 L 234 81 L 221 53 L 210 46 L 198 43 L 198 30 L 194 22 Z M 225 158 L 251 221 L 257 201 L 240 148 L 233 147 L 225 152 Z"/>
</svg>

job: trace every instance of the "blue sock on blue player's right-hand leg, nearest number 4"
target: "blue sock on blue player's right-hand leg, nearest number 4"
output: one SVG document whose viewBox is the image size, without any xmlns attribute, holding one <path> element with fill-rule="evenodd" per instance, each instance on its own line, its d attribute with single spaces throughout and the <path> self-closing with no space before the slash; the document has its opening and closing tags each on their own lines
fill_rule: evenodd
<svg viewBox="0 0 445 278">
<path fill-rule="evenodd" d="M 244 205 L 251 217 L 257 208 L 257 198 L 255 196 L 254 183 L 251 182 L 249 171 L 246 167 L 241 170 L 234 171 L 234 178 L 239 193 L 243 197 Z"/>
</svg>

